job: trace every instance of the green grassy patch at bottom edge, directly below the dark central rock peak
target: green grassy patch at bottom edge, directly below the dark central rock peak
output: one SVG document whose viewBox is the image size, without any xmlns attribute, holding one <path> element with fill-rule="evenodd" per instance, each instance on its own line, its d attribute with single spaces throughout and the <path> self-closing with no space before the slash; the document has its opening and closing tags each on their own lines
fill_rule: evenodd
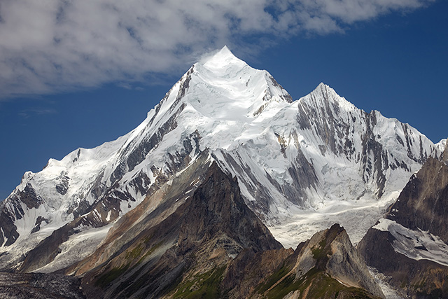
<svg viewBox="0 0 448 299">
<path fill-rule="evenodd" d="M 192 280 L 185 281 L 177 287 L 173 298 L 220 298 L 224 270 L 225 267 L 216 267 L 214 270 L 195 275 Z"/>
</svg>

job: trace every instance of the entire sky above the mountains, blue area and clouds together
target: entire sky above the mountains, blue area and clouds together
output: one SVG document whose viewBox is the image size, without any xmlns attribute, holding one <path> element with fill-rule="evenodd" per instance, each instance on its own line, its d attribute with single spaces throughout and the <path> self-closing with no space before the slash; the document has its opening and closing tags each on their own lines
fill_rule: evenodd
<svg viewBox="0 0 448 299">
<path fill-rule="evenodd" d="M 224 45 L 294 99 L 323 82 L 434 142 L 448 137 L 448 1 L 178 2 L 1 3 L 0 200 L 49 158 L 137 127 Z"/>
</svg>

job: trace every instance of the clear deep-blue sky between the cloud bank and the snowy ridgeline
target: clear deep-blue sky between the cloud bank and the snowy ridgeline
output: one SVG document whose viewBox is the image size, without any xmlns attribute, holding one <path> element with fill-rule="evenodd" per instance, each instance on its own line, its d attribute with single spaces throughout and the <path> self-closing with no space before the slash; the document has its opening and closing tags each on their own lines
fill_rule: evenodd
<svg viewBox="0 0 448 299">
<path fill-rule="evenodd" d="M 447 137 L 443 112 L 448 101 L 442 88 L 446 6 L 430 1 L 404 15 L 392 11 L 355 22 L 343 33 L 292 34 L 267 47 L 260 39 L 250 43 L 253 52 L 235 40 L 213 48 L 228 44 L 251 66 L 271 72 L 293 99 L 323 82 L 360 109 L 398 118 L 436 143 Z M 209 48 L 203 45 L 202 51 Z M 179 71 L 151 76 L 146 83 L 0 99 L 0 138 L 7 144 L 0 148 L 0 200 L 26 171 L 37 172 L 49 158 L 61 159 L 78 147 L 92 148 L 132 130 L 188 67 L 184 62 Z M 292 80 L 293 74 L 300 80 Z"/>
</svg>

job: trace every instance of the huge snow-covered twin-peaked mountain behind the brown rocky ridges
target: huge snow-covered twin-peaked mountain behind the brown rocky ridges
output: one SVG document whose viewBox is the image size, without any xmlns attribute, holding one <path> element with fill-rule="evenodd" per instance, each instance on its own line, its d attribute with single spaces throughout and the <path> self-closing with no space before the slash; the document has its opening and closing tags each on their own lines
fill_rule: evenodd
<svg viewBox="0 0 448 299">
<path fill-rule="evenodd" d="M 1 203 L 0 265 L 50 272 L 86 258 L 114 223 L 198 159 L 236 178 L 283 245 L 336 222 L 356 243 L 440 148 L 323 83 L 293 101 L 267 71 L 224 47 L 194 64 L 132 132 L 27 172 Z M 192 190 L 202 180 L 190 179 Z"/>
</svg>

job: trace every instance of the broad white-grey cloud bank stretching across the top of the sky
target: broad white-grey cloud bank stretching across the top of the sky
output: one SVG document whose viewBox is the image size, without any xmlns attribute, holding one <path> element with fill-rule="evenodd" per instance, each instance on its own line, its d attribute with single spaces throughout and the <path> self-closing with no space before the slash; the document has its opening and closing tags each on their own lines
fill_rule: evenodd
<svg viewBox="0 0 448 299">
<path fill-rule="evenodd" d="M 0 97 L 144 81 L 252 34 L 340 32 L 432 1 L 2 0 Z"/>
</svg>

